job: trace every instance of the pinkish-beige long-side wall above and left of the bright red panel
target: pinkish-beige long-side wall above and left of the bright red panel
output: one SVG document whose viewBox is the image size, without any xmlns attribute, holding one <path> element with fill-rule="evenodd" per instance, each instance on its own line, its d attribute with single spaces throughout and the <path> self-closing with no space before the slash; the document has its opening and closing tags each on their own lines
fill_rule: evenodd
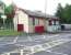
<svg viewBox="0 0 71 55">
<path fill-rule="evenodd" d="M 29 33 L 35 33 L 35 26 L 44 26 L 45 28 L 45 19 L 39 19 L 39 18 L 34 18 L 34 21 L 33 21 L 33 18 L 29 18 Z M 33 25 L 33 22 L 35 23 Z"/>
</svg>

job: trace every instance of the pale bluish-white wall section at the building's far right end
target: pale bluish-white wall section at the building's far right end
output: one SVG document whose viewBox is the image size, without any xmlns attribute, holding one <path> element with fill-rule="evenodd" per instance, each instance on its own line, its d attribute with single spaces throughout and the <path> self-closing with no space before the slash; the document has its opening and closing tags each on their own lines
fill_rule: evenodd
<svg viewBox="0 0 71 55">
<path fill-rule="evenodd" d="M 52 25 L 49 25 L 48 20 L 46 21 L 46 31 L 47 32 L 57 32 L 59 31 L 60 25 L 59 25 L 59 21 L 56 21 L 56 25 L 54 25 L 54 21 L 52 21 Z"/>
</svg>

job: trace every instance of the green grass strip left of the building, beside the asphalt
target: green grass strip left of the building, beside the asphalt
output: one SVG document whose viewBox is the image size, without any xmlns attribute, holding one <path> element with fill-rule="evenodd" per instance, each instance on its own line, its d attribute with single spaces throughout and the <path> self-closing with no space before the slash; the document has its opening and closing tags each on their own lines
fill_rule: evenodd
<svg viewBox="0 0 71 55">
<path fill-rule="evenodd" d="M 20 35 L 21 32 L 13 31 L 13 30 L 0 30 L 0 35 Z"/>
</svg>

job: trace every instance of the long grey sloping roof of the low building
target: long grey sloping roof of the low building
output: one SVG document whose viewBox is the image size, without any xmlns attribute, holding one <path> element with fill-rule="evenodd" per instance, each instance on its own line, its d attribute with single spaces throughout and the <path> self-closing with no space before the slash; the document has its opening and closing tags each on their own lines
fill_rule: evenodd
<svg viewBox="0 0 71 55">
<path fill-rule="evenodd" d="M 24 10 L 24 9 L 19 9 L 28 14 L 29 16 L 39 16 L 39 18 L 46 18 L 46 19 L 59 19 L 58 16 L 50 15 L 50 14 L 45 14 L 42 11 L 31 11 L 31 10 Z"/>
</svg>

